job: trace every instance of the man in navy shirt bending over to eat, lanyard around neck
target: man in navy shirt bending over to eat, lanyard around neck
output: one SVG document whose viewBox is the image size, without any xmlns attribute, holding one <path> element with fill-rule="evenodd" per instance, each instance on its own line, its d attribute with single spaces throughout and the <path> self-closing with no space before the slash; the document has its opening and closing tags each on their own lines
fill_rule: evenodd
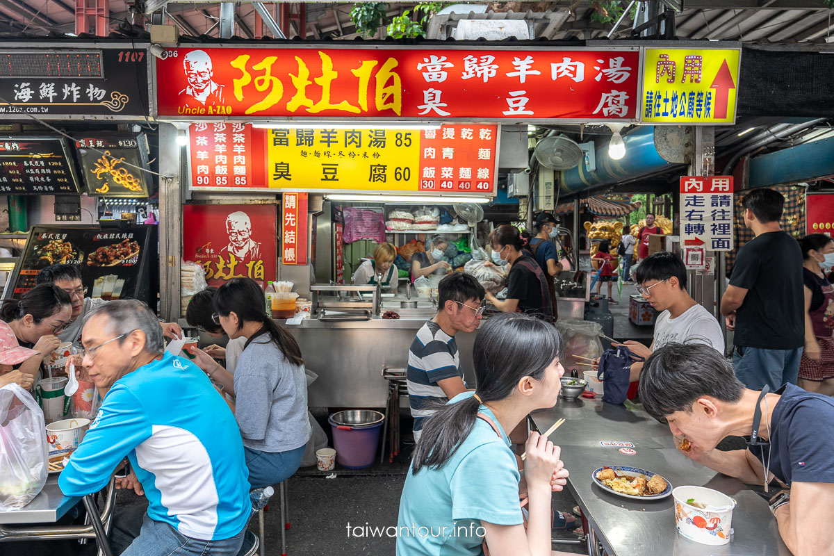
<svg viewBox="0 0 834 556">
<path fill-rule="evenodd" d="M 743 483 L 770 484 L 774 477 L 786 483 L 790 491 L 774 488 L 769 495 L 787 548 L 796 556 L 831 554 L 834 428 L 826 424 L 834 422 L 834 399 L 793 384 L 773 393 L 749 390 L 721 353 L 680 343 L 646 359 L 640 399 L 652 417 L 666 418 L 686 457 Z M 751 448 L 715 449 L 728 436 L 754 431 Z"/>
</svg>

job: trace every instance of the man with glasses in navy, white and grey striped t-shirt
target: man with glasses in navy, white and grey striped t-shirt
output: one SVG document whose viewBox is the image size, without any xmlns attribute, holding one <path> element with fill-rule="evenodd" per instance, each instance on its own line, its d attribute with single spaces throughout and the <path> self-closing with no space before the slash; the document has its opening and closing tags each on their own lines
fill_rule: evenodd
<svg viewBox="0 0 834 556">
<path fill-rule="evenodd" d="M 475 332 L 484 313 L 484 287 L 470 274 L 451 273 L 437 286 L 437 314 L 425 323 L 409 348 L 407 383 L 414 442 L 420 439 L 433 403 L 465 392 L 455 334 Z"/>
</svg>

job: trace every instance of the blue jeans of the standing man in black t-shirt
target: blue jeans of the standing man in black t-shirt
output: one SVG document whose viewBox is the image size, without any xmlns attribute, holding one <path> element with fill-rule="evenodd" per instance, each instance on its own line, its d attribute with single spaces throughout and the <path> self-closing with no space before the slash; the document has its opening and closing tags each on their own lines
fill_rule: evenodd
<svg viewBox="0 0 834 556">
<path fill-rule="evenodd" d="M 799 378 L 799 360 L 802 348 L 762 349 L 736 346 L 732 352 L 732 366 L 736 377 L 752 390 L 765 384 L 771 392 L 782 384 L 796 384 Z"/>
</svg>

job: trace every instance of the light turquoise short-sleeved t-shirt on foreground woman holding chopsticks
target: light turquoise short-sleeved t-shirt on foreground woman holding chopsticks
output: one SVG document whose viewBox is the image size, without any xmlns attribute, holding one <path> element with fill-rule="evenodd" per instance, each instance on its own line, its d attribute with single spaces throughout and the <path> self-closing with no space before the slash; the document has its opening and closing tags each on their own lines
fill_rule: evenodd
<svg viewBox="0 0 834 556">
<path fill-rule="evenodd" d="M 460 393 L 449 403 L 469 398 Z M 399 499 L 398 556 L 475 556 L 482 553 L 481 521 L 499 525 L 524 523 L 519 506 L 520 473 L 510 438 L 485 405 L 501 438 L 476 418 L 470 435 L 440 469 L 409 470 Z"/>
</svg>

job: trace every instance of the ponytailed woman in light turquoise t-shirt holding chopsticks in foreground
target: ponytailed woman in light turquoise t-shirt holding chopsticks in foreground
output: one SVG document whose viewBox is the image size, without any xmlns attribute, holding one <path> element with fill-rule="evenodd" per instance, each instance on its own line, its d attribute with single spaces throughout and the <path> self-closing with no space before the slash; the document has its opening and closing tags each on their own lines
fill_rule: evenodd
<svg viewBox="0 0 834 556">
<path fill-rule="evenodd" d="M 560 448 L 527 439 L 529 520 L 519 503 L 511 431 L 556 403 L 565 369 L 549 323 L 525 314 L 490 318 L 475 338 L 475 392 L 460 393 L 427 421 L 399 500 L 397 554 L 550 556 L 550 493 L 566 483 Z"/>
</svg>

